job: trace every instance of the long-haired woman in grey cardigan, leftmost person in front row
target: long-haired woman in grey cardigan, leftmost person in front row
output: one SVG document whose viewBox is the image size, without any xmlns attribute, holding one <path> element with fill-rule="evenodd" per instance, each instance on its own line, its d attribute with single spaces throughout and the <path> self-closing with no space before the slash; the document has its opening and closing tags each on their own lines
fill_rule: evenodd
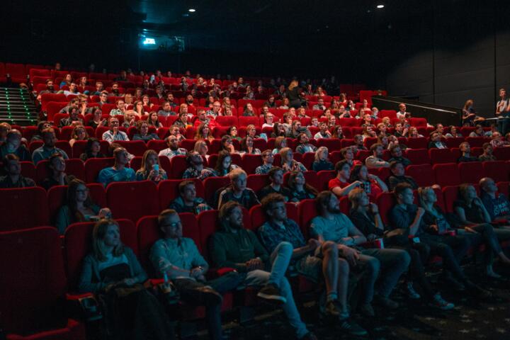
<svg viewBox="0 0 510 340">
<path fill-rule="evenodd" d="M 162 305 L 142 285 L 147 274 L 132 249 L 120 242 L 118 223 L 97 222 L 91 249 L 83 262 L 79 290 L 101 295 L 114 339 L 174 339 Z"/>
</svg>

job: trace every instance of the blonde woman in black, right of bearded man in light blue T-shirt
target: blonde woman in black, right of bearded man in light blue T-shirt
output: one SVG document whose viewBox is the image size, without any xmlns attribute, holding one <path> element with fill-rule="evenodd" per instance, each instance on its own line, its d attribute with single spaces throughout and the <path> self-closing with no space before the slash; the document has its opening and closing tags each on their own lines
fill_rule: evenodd
<svg viewBox="0 0 510 340">
<path fill-rule="evenodd" d="M 348 194 L 349 202 L 351 202 L 351 211 L 349 217 L 355 225 L 367 238 L 368 242 L 375 239 L 383 239 L 384 247 L 389 249 L 404 249 L 411 256 L 409 263 L 409 274 L 407 275 L 406 290 L 407 295 L 412 299 L 419 299 L 421 296 L 414 290 L 413 283 L 418 283 L 423 291 L 426 300 L 432 307 L 441 310 L 451 310 L 455 305 L 443 300 L 441 294 L 435 292 L 431 283 L 426 278 L 423 263 L 429 258 L 426 251 L 418 251 L 409 243 L 407 237 L 390 236 L 385 232 L 385 225 L 379 215 L 379 208 L 375 203 L 370 203 L 368 195 L 363 188 L 354 188 Z"/>
</svg>

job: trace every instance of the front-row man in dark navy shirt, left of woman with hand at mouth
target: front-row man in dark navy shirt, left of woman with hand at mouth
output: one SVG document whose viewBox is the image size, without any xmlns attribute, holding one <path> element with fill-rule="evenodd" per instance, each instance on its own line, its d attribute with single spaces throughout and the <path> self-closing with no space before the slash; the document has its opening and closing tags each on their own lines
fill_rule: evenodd
<svg viewBox="0 0 510 340">
<path fill-rule="evenodd" d="M 426 225 L 423 220 L 425 210 L 413 203 L 413 191 L 409 184 L 397 184 L 394 193 L 397 204 L 390 210 L 390 227 L 395 232 L 407 236 L 413 242 L 415 249 L 430 252 L 431 256 L 441 256 L 445 271 L 443 277 L 450 285 L 458 288 L 465 287 L 468 293 L 475 296 L 490 296 L 487 290 L 472 283 L 459 265 L 460 260 L 465 256 L 470 246 L 470 241 L 465 237 L 444 237 L 427 232 L 437 230 L 438 226 Z M 456 251 L 452 249 L 450 244 L 455 246 Z M 451 277 L 450 274 L 453 274 L 455 278 Z"/>
</svg>

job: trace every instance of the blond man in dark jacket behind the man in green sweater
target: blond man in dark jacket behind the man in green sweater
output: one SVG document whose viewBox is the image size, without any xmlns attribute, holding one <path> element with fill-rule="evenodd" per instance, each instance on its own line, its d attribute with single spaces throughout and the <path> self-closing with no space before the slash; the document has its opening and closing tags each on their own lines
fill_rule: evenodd
<svg viewBox="0 0 510 340">
<path fill-rule="evenodd" d="M 229 200 L 239 203 L 246 209 L 250 209 L 254 205 L 260 204 L 255 192 L 250 188 L 246 188 L 246 172 L 243 169 L 233 169 L 228 174 L 230 186 L 220 193 L 218 198 L 218 210 Z"/>
</svg>

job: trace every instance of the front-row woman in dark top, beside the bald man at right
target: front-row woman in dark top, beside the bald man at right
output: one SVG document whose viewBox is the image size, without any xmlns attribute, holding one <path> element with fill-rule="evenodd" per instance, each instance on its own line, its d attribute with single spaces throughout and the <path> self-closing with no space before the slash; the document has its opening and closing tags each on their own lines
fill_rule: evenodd
<svg viewBox="0 0 510 340">
<path fill-rule="evenodd" d="M 510 230 L 505 228 L 494 229 L 489 212 L 477 196 L 475 187 L 471 184 L 461 184 L 459 187 L 459 199 L 453 203 L 453 210 L 458 217 L 460 225 L 466 232 L 477 234 L 481 237 L 487 250 L 485 252 L 485 264 L 487 276 L 499 278 L 499 274 L 494 273 L 492 261 L 494 253 L 499 257 L 499 261 L 506 266 L 510 265 L 510 259 L 502 251 L 499 242 L 510 239 Z"/>
</svg>

